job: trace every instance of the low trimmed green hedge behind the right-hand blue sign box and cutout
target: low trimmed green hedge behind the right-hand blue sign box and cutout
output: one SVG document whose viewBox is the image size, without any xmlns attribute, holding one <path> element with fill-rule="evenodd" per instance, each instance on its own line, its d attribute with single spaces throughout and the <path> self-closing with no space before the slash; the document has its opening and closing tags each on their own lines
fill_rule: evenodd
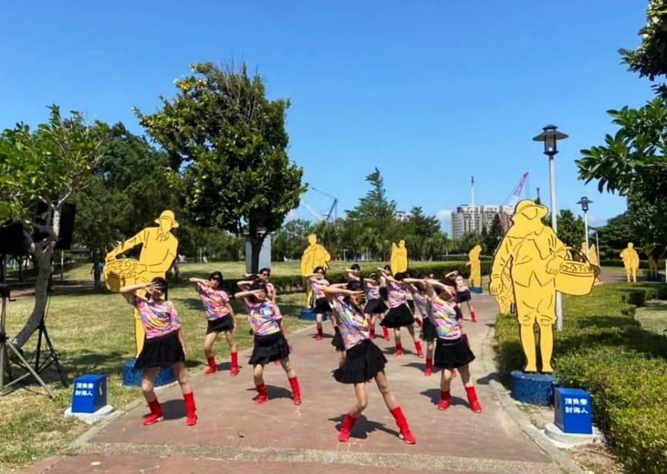
<svg viewBox="0 0 667 474">
<path fill-rule="evenodd" d="M 590 295 L 563 297 L 555 379 L 593 395 L 595 423 L 633 473 L 667 472 L 667 337 L 642 329 L 636 305 L 667 296 L 667 286 L 608 283 Z M 523 366 L 518 325 L 499 316 L 500 371 Z M 538 352 L 539 354 L 539 352 Z"/>
</svg>

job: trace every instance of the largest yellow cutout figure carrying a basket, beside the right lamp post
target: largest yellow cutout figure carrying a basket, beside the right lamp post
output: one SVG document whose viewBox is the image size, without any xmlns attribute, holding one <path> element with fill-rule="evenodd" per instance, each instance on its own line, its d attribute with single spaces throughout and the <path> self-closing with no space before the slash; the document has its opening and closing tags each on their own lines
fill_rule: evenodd
<svg viewBox="0 0 667 474">
<path fill-rule="evenodd" d="M 521 345 L 526 357 L 525 372 L 537 372 L 535 325 L 540 330 L 540 354 L 543 373 L 552 373 L 556 292 L 585 295 L 593 288 L 599 272 L 585 257 L 584 261 L 566 260 L 568 252 L 551 227 L 542 218 L 548 210 L 525 199 L 516 205 L 512 226 L 495 252 L 489 293 L 501 300 L 507 292 L 506 272 L 516 304 Z M 570 256 L 571 258 L 571 256 Z M 501 304 L 501 311 L 503 307 Z"/>
</svg>

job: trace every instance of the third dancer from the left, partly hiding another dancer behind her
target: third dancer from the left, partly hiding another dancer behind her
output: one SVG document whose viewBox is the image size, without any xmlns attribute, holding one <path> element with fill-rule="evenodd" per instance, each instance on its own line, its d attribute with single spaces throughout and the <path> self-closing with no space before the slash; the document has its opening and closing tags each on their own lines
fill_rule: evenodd
<svg viewBox="0 0 667 474">
<path fill-rule="evenodd" d="M 236 300 L 245 302 L 248 310 L 248 322 L 254 334 L 254 348 L 249 363 L 258 395 L 255 404 L 263 404 L 269 400 L 264 384 L 264 366 L 273 361 L 280 361 L 292 386 L 295 405 L 301 404 L 299 379 L 290 361 L 292 345 L 283 324 L 283 317 L 274 311 L 274 306 L 267 299 L 264 281 L 254 281 L 247 291 L 239 291 L 234 295 Z"/>
</svg>

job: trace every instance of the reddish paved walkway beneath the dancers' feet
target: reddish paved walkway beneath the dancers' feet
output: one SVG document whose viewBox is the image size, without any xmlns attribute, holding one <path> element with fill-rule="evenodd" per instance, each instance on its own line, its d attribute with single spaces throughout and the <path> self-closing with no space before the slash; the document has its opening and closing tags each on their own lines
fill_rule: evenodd
<svg viewBox="0 0 667 474">
<path fill-rule="evenodd" d="M 265 381 L 270 402 L 256 407 L 247 363 L 236 378 L 228 372 L 204 377 L 192 374 L 199 423 L 187 427 L 178 387 L 158 396 L 165 422 L 142 427 L 144 403 L 130 409 L 81 443 L 77 454 L 42 461 L 28 472 L 88 473 L 144 472 L 293 472 L 346 473 L 368 470 L 440 471 L 442 473 L 558 473 L 561 470 L 533 443 L 495 399 L 484 372 L 488 361 L 490 324 L 496 307 L 491 297 L 475 298 L 479 322 L 466 321 L 477 361 L 472 375 L 484 413 L 468 409 L 458 378 L 452 385 L 453 404 L 438 411 L 439 373 L 423 375 L 423 360 L 406 341 L 406 354 L 393 356 L 384 340 L 390 387 L 402 405 L 417 444 L 397 438 L 392 416 L 377 389 L 370 386 L 369 406 L 354 427 L 348 443 L 338 443 L 340 422 L 354 400 L 350 386 L 338 384 L 331 371 L 338 357 L 330 339 L 314 340 L 314 328 L 293 336 L 293 363 L 302 384 L 304 403 L 295 407 L 286 375 L 267 366 Z M 325 330 L 329 327 L 325 327 Z M 247 361 L 244 354 L 241 361 Z M 139 395 L 139 393 L 138 393 Z M 94 463 L 94 464 L 91 464 Z"/>
</svg>

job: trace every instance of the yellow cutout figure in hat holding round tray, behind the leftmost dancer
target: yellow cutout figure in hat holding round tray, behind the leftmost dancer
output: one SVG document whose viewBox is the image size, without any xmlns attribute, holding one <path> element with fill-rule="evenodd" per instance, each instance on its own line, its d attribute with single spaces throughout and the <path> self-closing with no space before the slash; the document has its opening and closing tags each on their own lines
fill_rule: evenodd
<svg viewBox="0 0 667 474">
<path fill-rule="evenodd" d="M 179 227 L 172 211 L 163 211 L 155 220 L 158 227 L 146 227 L 106 254 L 104 282 L 110 291 L 117 292 L 124 285 L 148 283 L 155 277 L 165 277 L 177 255 L 179 241 L 171 233 Z M 139 260 L 116 259 L 117 255 L 141 245 Z M 134 311 L 134 335 L 137 357 L 144 346 L 144 327 L 139 311 Z"/>
</svg>

